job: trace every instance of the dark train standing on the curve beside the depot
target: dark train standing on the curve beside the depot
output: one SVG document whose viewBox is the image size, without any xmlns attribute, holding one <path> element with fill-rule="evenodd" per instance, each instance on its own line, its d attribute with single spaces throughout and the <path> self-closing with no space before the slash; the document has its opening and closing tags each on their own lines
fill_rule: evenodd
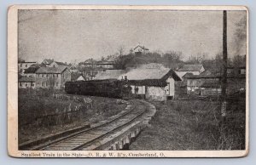
<svg viewBox="0 0 256 165">
<path fill-rule="evenodd" d="M 111 79 L 66 82 L 65 92 L 67 94 L 129 99 L 131 97 L 131 86 L 123 80 Z"/>
</svg>

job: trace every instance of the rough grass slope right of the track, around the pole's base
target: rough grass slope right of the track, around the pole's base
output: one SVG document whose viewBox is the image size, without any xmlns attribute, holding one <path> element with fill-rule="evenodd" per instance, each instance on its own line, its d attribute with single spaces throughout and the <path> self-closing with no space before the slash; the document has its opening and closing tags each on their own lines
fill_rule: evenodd
<svg viewBox="0 0 256 165">
<path fill-rule="evenodd" d="M 245 103 L 231 103 L 225 122 L 219 104 L 210 100 L 153 103 L 157 112 L 131 150 L 242 150 L 245 147 Z M 240 108 L 237 108 L 240 107 Z"/>
</svg>

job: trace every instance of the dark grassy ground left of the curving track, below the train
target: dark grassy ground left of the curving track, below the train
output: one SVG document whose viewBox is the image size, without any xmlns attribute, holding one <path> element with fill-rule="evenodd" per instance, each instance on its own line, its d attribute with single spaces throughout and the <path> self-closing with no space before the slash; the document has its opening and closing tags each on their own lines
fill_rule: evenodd
<svg viewBox="0 0 256 165">
<path fill-rule="evenodd" d="M 55 99 L 49 90 L 19 90 L 19 143 L 106 120 L 125 109 L 111 98 L 79 96 Z M 84 101 L 91 100 L 90 103 Z"/>
</svg>

